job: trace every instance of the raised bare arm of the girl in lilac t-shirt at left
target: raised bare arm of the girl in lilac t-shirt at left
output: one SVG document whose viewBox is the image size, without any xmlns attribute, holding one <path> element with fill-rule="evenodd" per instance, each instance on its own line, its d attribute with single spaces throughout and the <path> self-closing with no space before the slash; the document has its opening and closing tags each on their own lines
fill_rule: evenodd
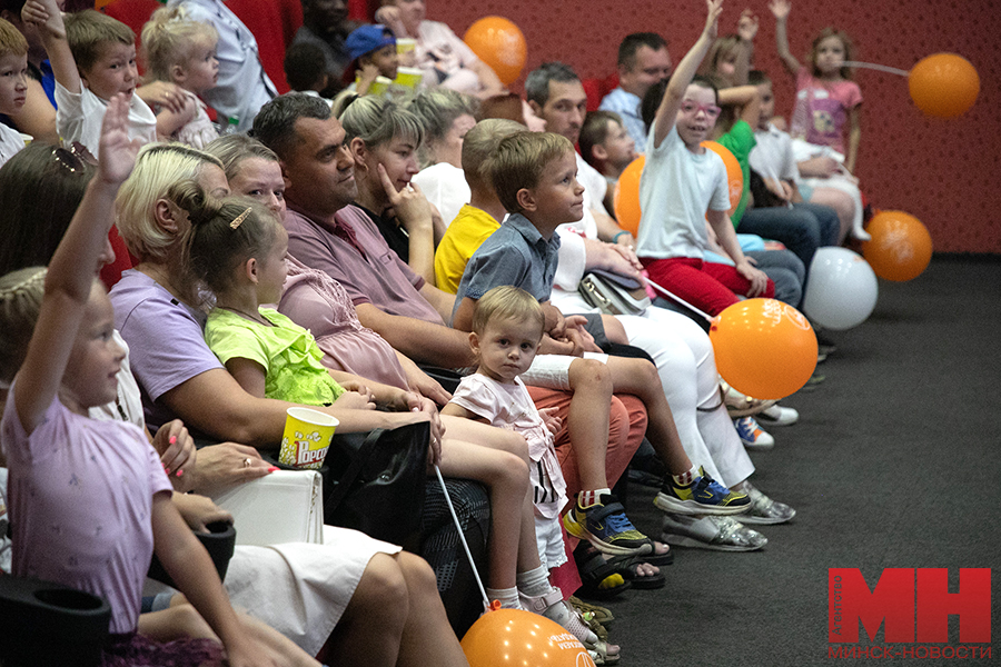
<svg viewBox="0 0 1001 667">
<path fill-rule="evenodd" d="M 139 142 L 129 141 L 128 117 L 125 97 L 115 96 L 101 125 L 98 173 L 87 186 L 49 263 L 44 299 L 14 386 L 18 418 L 28 434 L 38 426 L 62 382 L 90 300 L 95 267 L 111 228 L 115 197 L 136 163 Z"/>
</svg>

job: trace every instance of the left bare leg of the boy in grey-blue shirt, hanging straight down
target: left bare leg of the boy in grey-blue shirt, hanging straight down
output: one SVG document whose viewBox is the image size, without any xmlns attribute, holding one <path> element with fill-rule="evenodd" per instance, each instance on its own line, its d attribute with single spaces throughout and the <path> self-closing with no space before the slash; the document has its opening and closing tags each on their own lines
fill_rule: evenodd
<svg viewBox="0 0 1001 667">
<path fill-rule="evenodd" d="M 612 405 L 612 374 L 593 359 L 575 359 L 569 366 L 574 391 L 566 416 L 577 474 L 585 490 L 608 488 L 605 454 L 608 446 L 608 410 Z"/>
</svg>

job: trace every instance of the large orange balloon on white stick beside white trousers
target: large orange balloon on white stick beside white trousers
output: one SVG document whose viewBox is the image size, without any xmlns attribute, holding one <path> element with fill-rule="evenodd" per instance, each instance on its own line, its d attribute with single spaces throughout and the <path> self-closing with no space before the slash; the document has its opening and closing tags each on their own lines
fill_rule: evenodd
<svg viewBox="0 0 1001 667">
<path fill-rule="evenodd" d="M 710 340 L 723 379 L 747 396 L 785 398 L 816 368 L 816 335 L 799 310 L 775 299 L 747 299 L 713 319 Z"/>
</svg>

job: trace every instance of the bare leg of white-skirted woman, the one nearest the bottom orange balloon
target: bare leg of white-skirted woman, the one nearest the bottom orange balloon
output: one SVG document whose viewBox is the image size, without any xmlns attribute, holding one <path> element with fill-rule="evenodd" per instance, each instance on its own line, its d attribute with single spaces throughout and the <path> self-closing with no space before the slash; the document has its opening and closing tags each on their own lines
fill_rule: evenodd
<svg viewBox="0 0 1001 667">
<path fill-rule="evenodd" d="M 406 625 L 399 644 L 399 667 L 440 665 L 442 667 L 468 666 L 459 646 L 442 598 L 435 573 L 427 563 L 413 554 L 396 556 L 399 571 L 406 581 L 409 599 Z M 339 658 L 340 656 L 338 656 Z M 351 663 L 338 659 L 344 665 L 369 665 L 367 660 Z"/>
</svg>

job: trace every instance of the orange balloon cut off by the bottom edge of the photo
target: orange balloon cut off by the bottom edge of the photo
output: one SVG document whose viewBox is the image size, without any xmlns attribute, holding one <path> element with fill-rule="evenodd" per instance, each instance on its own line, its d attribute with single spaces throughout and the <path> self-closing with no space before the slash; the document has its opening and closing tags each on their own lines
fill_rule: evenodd
<svg viewBox="0 0 1001 667">
<path fill-rule="evenodd" d="M 523 609 L 487 611 L 462 641 L 469 667 L 595 667 L 559 624 Z"/>
</svg>

